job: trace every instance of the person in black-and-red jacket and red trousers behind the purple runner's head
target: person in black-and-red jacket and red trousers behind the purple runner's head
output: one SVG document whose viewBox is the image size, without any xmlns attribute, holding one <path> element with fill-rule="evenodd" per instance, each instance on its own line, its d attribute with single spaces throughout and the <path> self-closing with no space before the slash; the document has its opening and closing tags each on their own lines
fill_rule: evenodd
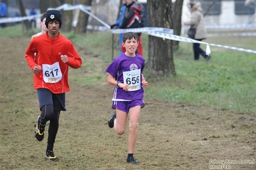
<svg viewBox="0 0 256 170">
<path fill-rule="evenodd" d="M 128 28 L 137 28 L 141 27 L 141 15 L 143 8 L 138 3 L 135 3 L 133 0 L 126 0 L 126 10 L 124 13 L 124 19 L 120 26 L 120 28 L 128 29 Z M 142 49 L 142 37 L 141 33 L 137 33 L 139 36 L 139 46 L 137 48 L 137 53 L 141 56 L 143 55 Z M 125 52 L 125 48 L 122 47 L 123 52 Z"/>
</svg>

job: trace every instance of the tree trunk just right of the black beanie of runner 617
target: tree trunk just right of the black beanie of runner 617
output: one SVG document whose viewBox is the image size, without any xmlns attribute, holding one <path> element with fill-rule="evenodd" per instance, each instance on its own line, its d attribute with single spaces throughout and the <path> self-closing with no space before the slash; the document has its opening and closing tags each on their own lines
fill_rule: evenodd
<svg viewBox="0 0 256 170">
<path fill-rule="evenodd" d="M 73 0 L 65 0 L 64 4 L 73 4 Z M 73 10 L 61 11 L 62 13 L 62 31 L 69 32 L 72 28 Z"/>
</svg>

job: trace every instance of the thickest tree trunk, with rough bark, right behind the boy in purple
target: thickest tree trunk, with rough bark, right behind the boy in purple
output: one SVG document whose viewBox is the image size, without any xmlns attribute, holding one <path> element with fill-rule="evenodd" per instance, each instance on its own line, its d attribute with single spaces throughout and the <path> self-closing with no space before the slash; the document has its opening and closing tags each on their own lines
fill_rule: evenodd
<svg viewBox="0 0 256 170">
<path fill-rule="evenodd" d="M 171 1 L 150 0 L 147 1 L 147 16 L 149 27 L 173 28 L 171 18 Z M 156 36 L 148 38 L 148 65 L 149 73 L 161 75 L 171 73 L 175 75 L 173 63 L 173 45 L 171 40 L 163 40 Z"/>
</svg>

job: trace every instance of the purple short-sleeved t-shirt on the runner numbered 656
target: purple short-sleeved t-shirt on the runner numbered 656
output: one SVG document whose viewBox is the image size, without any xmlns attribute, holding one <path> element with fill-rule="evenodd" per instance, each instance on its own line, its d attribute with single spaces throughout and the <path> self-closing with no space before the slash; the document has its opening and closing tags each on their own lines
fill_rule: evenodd
<svg viewBox="0 0 256 170">
<path fill-rule="evenodd" d="M 137 100 L 143 99 L 142 71 L 145 59 L 136 54 L 135 57 L 126 56 L 124 53 L 115 58 L 106 69 L 106 72 L 115 77 L 116 81 L 129 84 L 129 91 L 115 86 L 113 100 Z"/>
</svg>

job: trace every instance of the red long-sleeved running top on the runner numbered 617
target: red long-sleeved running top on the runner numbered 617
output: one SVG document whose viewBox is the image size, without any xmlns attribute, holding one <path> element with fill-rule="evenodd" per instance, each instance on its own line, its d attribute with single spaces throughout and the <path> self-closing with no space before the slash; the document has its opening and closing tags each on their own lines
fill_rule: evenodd
<svg viewBox="0 0 256 170">
<path fill-rule="evenodd" d="M 63 63 L 61 55 L 67 55 L 69 61 Z M 69 91 L 69 66 L 80 68 L 82 62 L 73 44 L 65 36 L 59 34 L 56 38 L 50 38 L 47 33 L 33 38 L 26 49 L 25 58 L 31 70 L 37 65 L 42 66 L 40 73 L 34 73 L 34 88 L 46 88 L 56 94 Z"/>
</svg>

